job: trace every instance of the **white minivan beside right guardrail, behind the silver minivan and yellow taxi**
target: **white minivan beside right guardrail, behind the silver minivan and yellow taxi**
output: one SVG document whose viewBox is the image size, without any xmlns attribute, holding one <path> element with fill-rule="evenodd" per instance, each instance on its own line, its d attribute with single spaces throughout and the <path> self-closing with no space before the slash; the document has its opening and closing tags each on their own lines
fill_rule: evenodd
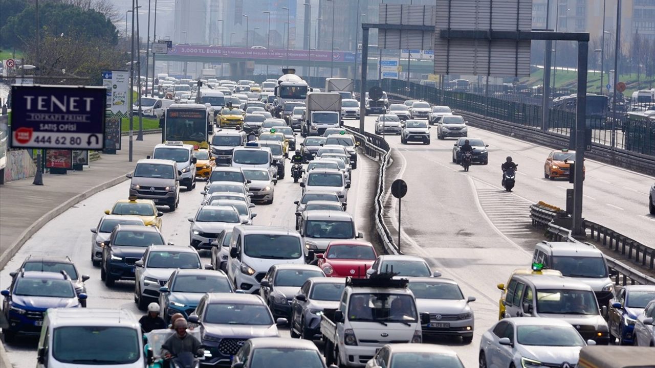
<svg viewBox="0 0 655 368">
<path fill-rule="evenodd" d="M 540 242 L 534 248 L 533 263 L 558 270 L 562 276 L 576 278 L 591 286 L 600 306 L 614 297 L 614 284 L 603 252 L 591 244 L 578 242 Z"/>
</svg>

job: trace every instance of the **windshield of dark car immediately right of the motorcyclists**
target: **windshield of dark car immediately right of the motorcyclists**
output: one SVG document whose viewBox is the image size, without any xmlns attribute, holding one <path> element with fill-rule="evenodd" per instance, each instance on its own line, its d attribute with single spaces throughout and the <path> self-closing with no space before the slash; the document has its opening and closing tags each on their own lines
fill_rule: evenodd
<svg viewBox="0 0 655 368">
<path fill-rule="evenodd" d="M 204 323 L 219 325 L 272 325 L 271 312 L 265 304 L 212 303 L 206 307 Z"/>
</svg>

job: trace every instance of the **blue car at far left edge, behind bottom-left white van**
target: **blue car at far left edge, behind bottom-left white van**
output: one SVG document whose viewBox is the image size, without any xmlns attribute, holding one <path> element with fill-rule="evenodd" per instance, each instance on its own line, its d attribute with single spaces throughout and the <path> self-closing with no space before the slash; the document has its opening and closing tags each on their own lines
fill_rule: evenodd
<svg viewBox="0 0 655 368">
<path fill-rule="evenodd" d="M 75 293 L 65 272 L 20 271 L 1 294 L 9 322 L 9 328 L 3 330 L 6 342 L 12 342 L 17 333 L 41 335 L 48 308 L 80 308 L 86 299 L 85 293 Z"/>
</svg>

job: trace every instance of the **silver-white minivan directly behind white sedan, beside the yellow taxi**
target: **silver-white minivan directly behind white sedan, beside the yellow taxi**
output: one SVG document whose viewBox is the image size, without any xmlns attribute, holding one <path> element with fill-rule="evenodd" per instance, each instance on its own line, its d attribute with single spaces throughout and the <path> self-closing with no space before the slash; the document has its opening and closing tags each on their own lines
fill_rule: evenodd
<svg viewBox="0 0 655 368">
<path fill-rule="evenodd" d="M 593 290 L 587 284 L 563 276 L 515 274 L 507 287 L 505 318 L 546 317 L 571 323 L 585 340 L 609 343 L 609 330 Z"/>
</svg>

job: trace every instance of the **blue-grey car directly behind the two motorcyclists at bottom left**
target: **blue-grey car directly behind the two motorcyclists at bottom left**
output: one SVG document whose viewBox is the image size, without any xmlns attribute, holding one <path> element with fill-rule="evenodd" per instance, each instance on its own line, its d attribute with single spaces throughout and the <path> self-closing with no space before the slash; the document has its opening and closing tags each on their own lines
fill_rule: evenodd
<svg viewBox="0 0 655 368">
<path fill-rule="evenodd" d="M 234 293 L 223 271 L 177 269 L 159 289 L 159 307 L 166 322 L 173 314 L 189 318 L 205 293 Z"/>
</svg>

